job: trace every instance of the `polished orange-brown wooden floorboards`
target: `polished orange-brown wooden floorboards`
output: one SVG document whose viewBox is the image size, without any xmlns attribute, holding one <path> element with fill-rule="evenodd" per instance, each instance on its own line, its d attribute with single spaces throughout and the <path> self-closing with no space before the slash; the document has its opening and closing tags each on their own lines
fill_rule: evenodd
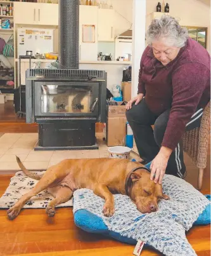
<svg viewBox="0 0 211 256">
<path fill-rule="evenodd" d="M 0 116 L 3 113 L 1 110 L 0 105 Z M 13 129 L 11 132 L 32 132 L 29 131 L 30 126 L 19 130 L 11 128 L 10 124 L 24 124 L 24 120 L 17 120 L 15 115 L 7 120 L 6 118 L 8 117 L 0 121 L 0 134 L 5 130 L 8 132 L 7 129 Z M 196 186 L 197 168 L 187 156 L 185 159 L 188 171 L 186 180 Z M 10 178 L 11 175 L 0 175 L 0 196 L 8 187 Z M 201 192 L 210 194 L 210 150 Z M 193 227 L 188 232 L 187 238 L 198 256 L 210 255 L 210 226 Z M 134 246 L 77 228 L 74 224 L 72 208 L 57 209 L 53 218 L 49 218 L 43 209 L 25 209 L 13 221 L 7 219 L 6 210 L 0 210 L 0 255 L 127 256 L 132 255 L 133 250 Z M 148 249 L 144 249 L 141 253 L 141 256 L 152 255 L 160 254 Z"/>
</svg>

